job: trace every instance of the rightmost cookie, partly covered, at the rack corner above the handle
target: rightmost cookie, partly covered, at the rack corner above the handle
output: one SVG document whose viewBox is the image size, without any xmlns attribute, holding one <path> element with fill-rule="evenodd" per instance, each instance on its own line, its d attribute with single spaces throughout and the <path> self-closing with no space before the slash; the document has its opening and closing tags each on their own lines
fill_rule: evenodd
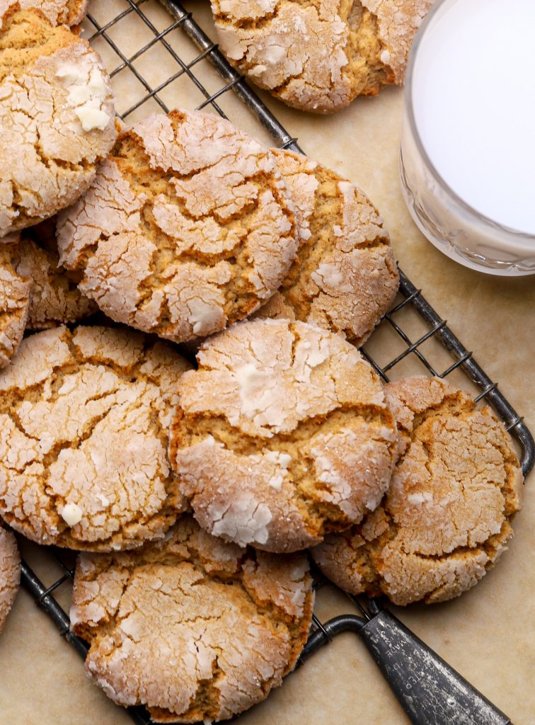
<svg viewBox="0 0 535 725">
<path fill-rule="evenodd" d="M 381 506 L 312 551 L 353 594 L 428 604 L 473 587 L 505 551 L 523 476 L 510 436 L 440 378 L 386 386 L 399 427 L 399 461 Z"/>
</svg>

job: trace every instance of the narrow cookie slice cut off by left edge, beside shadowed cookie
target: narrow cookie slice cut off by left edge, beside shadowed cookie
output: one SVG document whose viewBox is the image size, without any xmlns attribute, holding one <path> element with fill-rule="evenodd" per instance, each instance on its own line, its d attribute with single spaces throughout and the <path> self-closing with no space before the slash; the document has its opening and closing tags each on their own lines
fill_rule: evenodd
<svg viewBox="0 0 535 725">
<path fill-rule="evenodd" d="M 0 368 L 4 368 L 24 334 L 30 308 L 30 280 L 17 272 L 19 239 L 0 239 Z"/>
</svg>

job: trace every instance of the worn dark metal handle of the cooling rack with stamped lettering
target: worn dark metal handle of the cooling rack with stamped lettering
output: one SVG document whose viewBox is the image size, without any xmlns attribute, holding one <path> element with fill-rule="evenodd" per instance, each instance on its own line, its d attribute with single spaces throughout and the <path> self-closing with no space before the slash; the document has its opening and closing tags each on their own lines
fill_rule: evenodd
<svg viewBox="0 0 535 725">
<path fill-rule="evenodd" d="M 413 725 L 512 725 L 389 611 L 359 634 Z"/>
</svg>

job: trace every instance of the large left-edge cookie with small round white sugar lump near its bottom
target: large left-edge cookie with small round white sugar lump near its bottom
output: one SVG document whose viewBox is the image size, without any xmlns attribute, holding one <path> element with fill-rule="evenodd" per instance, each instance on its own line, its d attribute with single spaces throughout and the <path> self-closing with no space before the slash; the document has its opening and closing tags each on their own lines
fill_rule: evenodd
<svg viewBox="0 0 535 725">
<path fill-rule="evenodd" d="M 188 363 L 104 327 L 47 330 L 0 372 L 0 514 L 42 544 L 109 551 L 161 538 L 184 508 L 167 459 Z"/>
</svg>

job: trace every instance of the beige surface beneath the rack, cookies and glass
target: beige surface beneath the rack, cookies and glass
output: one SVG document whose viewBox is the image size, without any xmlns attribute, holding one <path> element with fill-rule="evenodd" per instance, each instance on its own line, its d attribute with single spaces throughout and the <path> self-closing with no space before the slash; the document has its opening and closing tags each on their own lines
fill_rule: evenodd
<svg viewBox="0 0 535 725">
<path fill-rule="evenodd" d="M 159 31 L 170 25 L 156 0 L 141 7 Z M 207 0 L 191 0 L 187 9 L 213 31 Z M 90 12 L 104 24 L 128 8 L 125 0 L 92 0 Z M 154 33 L 135 14 L 109 29 L 125 56 L 131 57 Z M 191 62 L 198 51 L 181 30 L 167 42 Z M 111 70 L 122 62 L 106 41 L 94 43 Z M 181 70 L 159 43 L 134 62 L 152 88 Z M 193 69 L 210 92 L 220 88 L 216 72 L 201 62 Z M 117 107 L 125 112 L 145 89 L 130 70 L 113 79 Z M 526 92 L 528 89 L 526 88 Z M 204 96 L 185 73 L 160 94 L 169 107 L 192 108 Z M 513 406 L 535 431 L 535 278 L 504 279 L 460 267 L 436 251 L 412 223 L 399 190 L 398 148 L 402 90 L 388 88 L 376 98 L 357 99 L 334 116 L 315 117 L 284 107 L 262 94 L 275 115 L 307 154 L 361 186 L 381 210 L 399 264 L 436 308 L 476 360 L 484 366 Z M 236 125 L 269 142 L 260 125 L 232 94 L 219 99 Z M 507 103 L 507 99 L 499 99 Z M 152 100 L 129 120 L 158 110 Z M 499 183 L 499 180 L 497 180 Z M 425 331 L 416 318 L 405 320 L 412 339 Z M 451 360 L 426 344 L 447 368 Z M 395 357 L 402 344 L 382 331 L 370 341 L 381 362 Z M 414 357 L 414 356 L 411 356 Z M 394 377 L 422 372 L 415 360 L 397 366 Z M 457 378 L 457 382 L 463 378 Z M 501 708 L 515 725 L 535 724 L 535 480 L 526 485 L 526 503 L 515 521 L 510 550 L 481 584 L 452 602 L 433 607 L 394 609 L 419 637 Z M 26 553 L 47 583 L 57 578 L 42 552 Z M 57 592 L 68 609 L 68 587 Z M 318 597 L 317 613 L 328 618 L 352 611 L 334 588 Z M 406 725 L 407 718 L 354 634 L 336 637 L 286 679 L 265 703 L 239 718 L 243 725 Z M 80 658 L 26 592 L 20 592 L 0 637 L 0 725 L 126 725 L 130 718 L 86 679 Z"/>
</svg>

